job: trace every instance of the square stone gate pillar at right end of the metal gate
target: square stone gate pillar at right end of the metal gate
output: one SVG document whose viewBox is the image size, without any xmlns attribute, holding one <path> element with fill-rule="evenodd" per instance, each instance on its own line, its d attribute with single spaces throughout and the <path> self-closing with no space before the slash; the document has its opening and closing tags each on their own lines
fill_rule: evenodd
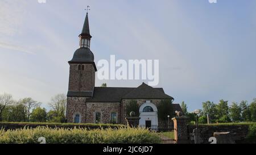
<svg viewBox="0 0 256 155">
<path fill-rule="evenodd" d="M 188 134 L 188 118 L 185 116 L 177 116 L 172 118 L 174 121 L 174 137 L 177 144 L 187 144 L 189 143 L 189 134 Z"/>
</svg>

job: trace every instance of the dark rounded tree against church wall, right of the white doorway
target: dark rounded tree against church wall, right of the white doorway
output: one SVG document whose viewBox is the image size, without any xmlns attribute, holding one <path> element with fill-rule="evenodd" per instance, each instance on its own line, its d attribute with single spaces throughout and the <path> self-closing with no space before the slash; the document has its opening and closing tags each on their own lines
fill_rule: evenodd
<svg viewBox="0 0 256 155">
<path fill-rule="evenodd" d="M 175 115 L 172 108 L 172 103 L 168 99 L 161 100 L 160 104 L 158 105 L 158 118 L 164 122 L 168 122 L 168 115 L 171 118 Z"/>
</svg>

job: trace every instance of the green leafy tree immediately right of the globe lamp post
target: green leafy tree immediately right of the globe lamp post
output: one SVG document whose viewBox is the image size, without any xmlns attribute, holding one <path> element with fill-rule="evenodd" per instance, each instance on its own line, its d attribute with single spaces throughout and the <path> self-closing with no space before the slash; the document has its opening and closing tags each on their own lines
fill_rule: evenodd
<svg viewBox="0 0 256 155">
<path fill-rule="evenodd" d="M 205 116 L 208 114 L 210 122 L 215 122 L 217 115 L 216 104 L 209 100 L 207 102 L 203 102 L 203 114 Z"/>
</svg>

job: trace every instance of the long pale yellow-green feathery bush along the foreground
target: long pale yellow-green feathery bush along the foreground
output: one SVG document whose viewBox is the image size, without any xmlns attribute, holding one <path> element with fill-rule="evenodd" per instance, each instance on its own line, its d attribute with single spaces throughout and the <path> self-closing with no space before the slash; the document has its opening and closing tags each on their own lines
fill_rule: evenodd
<svg viewBox="0 0 256 155">
<path fill-rule="evenodd" d="M 0 144 L 39 144 L 39 137 L 45 137 L 47 144 L 152 144 L 161 142 L 156 133 L 142 128 L 88 130 L 37 127 L 0 130 Z"/>
</svg>

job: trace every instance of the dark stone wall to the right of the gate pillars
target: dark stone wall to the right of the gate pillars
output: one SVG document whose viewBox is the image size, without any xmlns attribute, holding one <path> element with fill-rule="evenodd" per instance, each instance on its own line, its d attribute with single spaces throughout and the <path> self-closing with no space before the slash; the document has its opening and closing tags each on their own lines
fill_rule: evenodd
<svg viewBox="0 0 256 155">
<path fill-rule="evenodd" d="M 196 125 L 188 125 L 189 133 L 193 132 Z M 213 137 L 214 132 L 230 132 L 230 141 L 234 143 L 244 143 L 248 133 L 249 125 L 199 125 L 199 141 L 208 144 L 209 137 Z M 193 139 L 193 138 L 192 138 Z M 192 140 L 191 143 L 194 143 Z"/>
</svg>

